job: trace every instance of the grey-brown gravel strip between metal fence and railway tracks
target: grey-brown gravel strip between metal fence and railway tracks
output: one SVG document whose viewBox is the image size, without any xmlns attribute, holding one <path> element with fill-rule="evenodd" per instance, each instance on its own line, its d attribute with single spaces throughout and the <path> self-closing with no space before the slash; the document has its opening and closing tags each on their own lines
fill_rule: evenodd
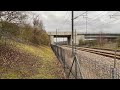
<svg viewBox="0 0 120 90">
<path fill-rule="evenodd" d="M 68 47 L 62 47 L 62 48 L 66 50 L 67 55 L 72 50 L 71 48 L 68 48 Z M 77 56 L 80 60 L 81 72 L 85 79 L 111 78 L 111 68 L 114 65 L 113 58 L 105 57 L 102 55 L 97 55 L 97 54 L 93 54 L 93 53 L 89 53 L 81 50 L 77 50 Z M 116 59 L 116 68 L 118 70 L 120 68 L 120 61 L 117 59 Z"/>
</svg>

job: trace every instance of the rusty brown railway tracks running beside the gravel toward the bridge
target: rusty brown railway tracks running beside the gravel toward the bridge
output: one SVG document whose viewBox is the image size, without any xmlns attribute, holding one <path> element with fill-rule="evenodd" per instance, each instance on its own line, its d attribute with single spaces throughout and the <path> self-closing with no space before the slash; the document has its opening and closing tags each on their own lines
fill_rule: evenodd
<svg viewBox="0 0 120 90">
<path fill-rule="evenodd" d="M 71 46 L 65 46 L 65 47 L 72 48 Z M 114 50 L 93 49 L 93 48 L 83 48 L 83 47 L 76 47 L 76 49 L 81 50 L 81 51 L 94 53 L 94 54 L 98 54 L 98 55 L 102 55 L 102 56 L 106 56 L 106 57 L 110 57 L 110 58 L 120 59 L 120 54 L 115 53 Z"/>
</svg>

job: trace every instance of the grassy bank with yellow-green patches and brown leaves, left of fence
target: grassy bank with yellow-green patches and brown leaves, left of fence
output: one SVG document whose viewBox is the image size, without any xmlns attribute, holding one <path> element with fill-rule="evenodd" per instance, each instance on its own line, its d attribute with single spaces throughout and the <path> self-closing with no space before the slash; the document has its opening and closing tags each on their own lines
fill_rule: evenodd
<svg viewBox="0 0 120 90">
<path fill-rule="evenodd" d="M 0 42 L 0 78 L 60 79 L 63 68 L 50 47 Z"/>
</svg>

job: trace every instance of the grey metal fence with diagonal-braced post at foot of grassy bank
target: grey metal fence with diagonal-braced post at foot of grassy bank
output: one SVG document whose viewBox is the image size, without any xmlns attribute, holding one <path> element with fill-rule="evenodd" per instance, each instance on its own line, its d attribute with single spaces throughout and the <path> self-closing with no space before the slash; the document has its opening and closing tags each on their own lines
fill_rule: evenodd
<svg viewBox="0 0 120 90">
<path fill-rule="evenodd" d="M 80 71 L 80 64 L 75 54 L 72 58 L 72 62 L 67 61 L 66 53 L 63 48 L 58 45 L 51 45 L 55 55 L 57 56 L 58 60 L 62 63 L 64 67 L 64 71 L 66 73 L 67 78 L 70 79 L 82 79 L 81 71 Z"/>
</svg>

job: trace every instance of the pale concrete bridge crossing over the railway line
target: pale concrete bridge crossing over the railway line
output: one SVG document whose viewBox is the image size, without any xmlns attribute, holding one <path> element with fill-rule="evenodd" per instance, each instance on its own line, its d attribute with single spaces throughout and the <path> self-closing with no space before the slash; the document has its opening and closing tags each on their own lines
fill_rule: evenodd
<svg viewBox="0 0 120 90">
<path fill-rule="evenodd" d="M 51 44 L 54 44 L 54 38 L 56 37 L 66 37 L 68 45 L 72 45 L 72 33 L 71 32 L 48 32 L 48 35 L 50 36 L 51 39 Z M 76 33 L 76 45 L 79 44 L 79 40 L 96 40 L 99 39 L 100 37 L 107 39 L 107 40 L 114 40 L 118 37 L 120 37 L 120 33 Z M 75 41 L 75 33 L 73 37 Z"/>
</svg>

